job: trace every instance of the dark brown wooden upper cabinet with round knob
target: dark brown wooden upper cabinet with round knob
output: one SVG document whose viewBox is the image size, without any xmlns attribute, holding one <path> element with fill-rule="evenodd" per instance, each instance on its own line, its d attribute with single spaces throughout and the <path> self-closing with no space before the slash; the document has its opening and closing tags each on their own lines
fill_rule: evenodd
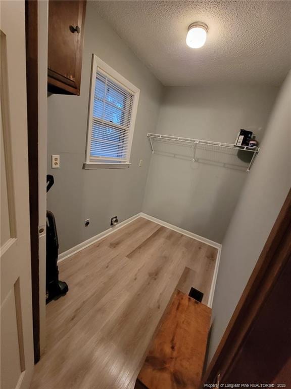
<svg viewBox="0 0 291 389">
<path fill-rule="evenodd" d="M 79 95 L 86 1 L 49 1 L 47 90 Z"/>
</svg>

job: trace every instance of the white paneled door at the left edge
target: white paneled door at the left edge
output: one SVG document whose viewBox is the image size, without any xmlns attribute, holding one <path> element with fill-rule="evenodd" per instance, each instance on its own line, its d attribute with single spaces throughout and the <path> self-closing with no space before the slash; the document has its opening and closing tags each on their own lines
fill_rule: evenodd
<svg viewBox="0 0 291 389">
<path fill-rule="evenodd" d="M 1 1 L 1 389 L 33 374 L 24 0 Z"/>
</svg>

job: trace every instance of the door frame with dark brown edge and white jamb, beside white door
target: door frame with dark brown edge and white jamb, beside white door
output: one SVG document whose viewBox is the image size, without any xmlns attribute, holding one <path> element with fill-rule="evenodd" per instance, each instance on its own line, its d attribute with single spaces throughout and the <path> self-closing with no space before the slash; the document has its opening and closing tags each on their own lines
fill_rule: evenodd
<svg viewBox="0 0 291 389">
<path fill-rule="evenodd" d="M 49 0 L 25 0 L 34 359 L 45 349 L 47 28 Z"/>
</svg>

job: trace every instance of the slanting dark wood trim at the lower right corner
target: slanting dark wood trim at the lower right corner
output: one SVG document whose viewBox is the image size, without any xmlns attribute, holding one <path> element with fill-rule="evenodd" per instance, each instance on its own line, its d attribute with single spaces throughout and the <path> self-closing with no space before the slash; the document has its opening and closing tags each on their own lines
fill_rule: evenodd
<svg viewBox="0 0 291 389">
<path fill-rule="evenodd" d="M 204 387 L 204 383 L 216 383 L 218 374 L 220 382 L 223 382 L 290 256 L 291 189 L 203 377 L 201 387 Z"/>
</svg>

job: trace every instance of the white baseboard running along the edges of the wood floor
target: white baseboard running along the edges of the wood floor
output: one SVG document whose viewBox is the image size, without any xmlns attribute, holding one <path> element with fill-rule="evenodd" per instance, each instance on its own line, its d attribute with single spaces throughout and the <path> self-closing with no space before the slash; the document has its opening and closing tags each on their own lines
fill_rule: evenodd
<svg viewBox="0 0 291 389">
<path fill-rule="evenodd" d="M 72 255 L 78 253 L 79 251 L 85 249 L 86 247 L 92 245 L 95 242 L 100 241 L 101 239 L 107 237 L 108 235 L 113 234 L 113 232 L 117 231 L 118 229 L 124 227 L 125 225 L 131 223 L 133 220 L 137 219 L 138 217 L 143 217 L 144 219 L 148 219 L 151 221 L 154 221 L 157 224 L 163 225 L 164 227 L 167 227 L 169 229 L 172 229 L 173 231 L 179 232 L 182 235 L 185 235 L 189 238 L 196 239 L 197 241 L 206 243 L 209 246 L 215 247 L 218 249 L 217 251 L 217 257 L 216 257 L 216 262 L 215 262 L 215 268 L 214 268 L 214 273 L 212 277 L 212 283 L 211 283 L 211 288 L 210 288 L 210 293 L 209 293 L 209 299 L 208 299 L 208 306 L 211 308 L 212 307 L 212 302 L 213 302 L 213 297 L 214 297 L 214 291 L 215 291 L 215 285 L 216 285 L 216 280 L 217 280 L 217 274 L 218 274 L 218 267 L 219 267 L 219 262 L 220 262 L 220 254 L 221 254 L 221 244 L 214 242 L 210 239 L 203 238 L 199 235 L 194 234 L 193 232 L 187 231 L 183 228 L 177 227 L 173 224 L 167 223 L 166 221 L 157 219 L 156 217 L 153 217 L 151 215 L 147 215 L 146 213 L 140 212 L 137 213 L 134 216 L 129 217 L 128 219 L 120 222 L 119 224 L 108 228 L 107 230 L 100 232 L 100 234 L 95 235 L 94 237 L 91 237 L 87 239 L 86 241 L 79 243 L 77 246 L 72 247 L 71 249 L 64 251 L 59 255 L 58 263 L 62 262 L 63 260 L 71 257 Z"/>
</svg>

